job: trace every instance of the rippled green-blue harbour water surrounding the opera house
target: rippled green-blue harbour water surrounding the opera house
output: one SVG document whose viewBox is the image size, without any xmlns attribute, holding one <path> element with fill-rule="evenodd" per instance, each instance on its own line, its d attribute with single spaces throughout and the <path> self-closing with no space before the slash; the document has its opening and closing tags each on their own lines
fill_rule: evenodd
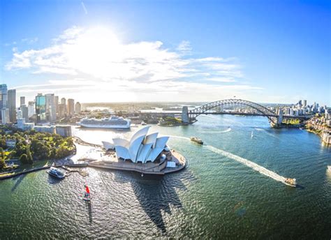
<svg viewBox="0 0 331 240">
<path fill-rule="evenodd" d="M 135 130 L 77 128 L 75 135 L 101 144 Z M 169 145 L 188 160 L 185 170 L 141 177 L 89 168 L 88 177 L 63 181 L 44 171 L 0 181 L 1 239 L 330 239 L 331 148 L 317 135 L 237 116 L 152 130 L 173 136 Z M 300 186 L 286 186 L 284 177 Z M 82 201 L 84 183 L 91 204 Z"/>
</svg>

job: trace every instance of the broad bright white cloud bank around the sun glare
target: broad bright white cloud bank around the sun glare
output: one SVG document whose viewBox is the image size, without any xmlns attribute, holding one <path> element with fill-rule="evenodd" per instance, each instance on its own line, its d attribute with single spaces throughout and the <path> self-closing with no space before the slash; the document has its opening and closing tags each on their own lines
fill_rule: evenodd
<svg viewBox="0 0 331 240">
<path fill-rule="evenodd" d="M 23 52 L 15 50 L 6 69 L 25 69 L 45 77 L 64 79 L 19 86 L 17 91 L 21 93 L 48 89 L 71 95 L 85 93 L 85 96 L 99 100 L 102 100 L 101 92 L 108 92 L 108 98 L 123 93 L 127 100 L 148 100 L 146 98 L 151 96 L 159 100 L 179 100 L 200 98 L 197 94 L 209 98 L 219 96 L 220 92 L 260 89 L 240 84 L 243 73 L 237 59 L 183 57 L 183 52 L 191 50 L 188 41 L 183 41 L 176 50 L 170 50 L 163 47 L 161 41 L 121 43 L 110 29 L 103 27 L 72 27 L 54 38 L 49 47 Z M 108 101 L 111 100 L 114 99 Z M 84 98 L 81 101 L 93 100 Z"/>
</svg>

